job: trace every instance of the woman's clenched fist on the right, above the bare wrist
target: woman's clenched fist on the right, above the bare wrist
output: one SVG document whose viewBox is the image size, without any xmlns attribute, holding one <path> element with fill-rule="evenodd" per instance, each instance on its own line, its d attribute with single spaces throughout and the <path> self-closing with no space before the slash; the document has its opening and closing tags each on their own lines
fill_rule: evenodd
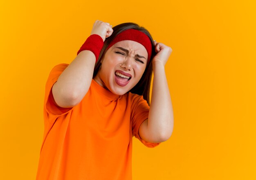
<svg viewBox="0 0 256 180">
<path fill-rule="evenodd" d="M 155 52 L 157 54 L 153 58 L 153 62 L 161 62 L 163 63 L 163 65 L 165 65 L 173 50 L 171 49 L 171 47 L 168 47 L 160 42 L 154 41 L 154 45 Z"/>
</svg>

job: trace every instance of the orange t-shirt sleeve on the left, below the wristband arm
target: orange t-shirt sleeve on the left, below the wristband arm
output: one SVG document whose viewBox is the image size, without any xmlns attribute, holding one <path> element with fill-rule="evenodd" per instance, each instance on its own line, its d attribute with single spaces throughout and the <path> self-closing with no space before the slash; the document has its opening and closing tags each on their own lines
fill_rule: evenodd
<svg viewBox="0 0 256 180">
<path fill-rule="evenodd" d="M 69 64 L 58 64 L 56 65 L 51 72 L 49 73 L 49 77 L 45 84 L 45 100 L 44 100 L 44 109 L 47 112 L 48 116 L 61 116 L 69 111 L 71 111 L 74 107 L 63 108 L 59 107 L 55 104 L 53 95 L 52 95 L 52 87 L 55 82 L 57 82 L 58 77 L 61 73 L 66 69 Z"/>
</svg>

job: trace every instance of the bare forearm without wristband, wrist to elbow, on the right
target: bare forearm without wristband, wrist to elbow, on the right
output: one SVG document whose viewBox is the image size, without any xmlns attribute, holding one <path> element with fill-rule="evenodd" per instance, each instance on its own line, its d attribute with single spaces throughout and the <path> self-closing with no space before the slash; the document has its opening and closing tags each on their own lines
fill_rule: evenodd
<svg viewBox="0 0 256 180">
<path fill-rule="evenodd" d="M 153 88 L 148 115 L 148 129 L 160 138 L 168 139 L 173 131 L 173 107 L 164 65 L 153 63 Z M 166 138 L 167 137 L 167 138 Z"/>
</svg>

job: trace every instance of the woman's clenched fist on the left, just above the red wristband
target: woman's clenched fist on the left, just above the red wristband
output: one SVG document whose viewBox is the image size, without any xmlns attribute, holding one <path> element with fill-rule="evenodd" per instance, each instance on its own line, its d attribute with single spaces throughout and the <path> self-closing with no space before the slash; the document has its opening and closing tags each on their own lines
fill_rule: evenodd
<svg viewBox="0 0 256 180">
<path fill-rule="evenodd" d="M 110 25 L 108 22 L 103 22 L 100 20 L 96 20 L 93 24 L 91 35 L 92 34 L 98 34 L 103 39 L 103 42 L 111 36 L 113 33 L 112 25 Z"/>
</svg>

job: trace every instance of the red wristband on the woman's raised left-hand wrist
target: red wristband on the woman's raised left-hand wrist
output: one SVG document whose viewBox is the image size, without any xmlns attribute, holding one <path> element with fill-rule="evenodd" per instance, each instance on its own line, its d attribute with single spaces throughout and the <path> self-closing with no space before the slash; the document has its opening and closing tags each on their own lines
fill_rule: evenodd
<svg viewBox="0 0 256 180">
<path fill-rule="evenodd" d="M 86 41 L 80 47 L 79 51 L 77 52 L 77 55 L 83 50 L 92 51 L 96 57 L 96 62 L 97 62 L 99 58 L 99 53 L 101 52 L 101 49 L 103 47 L 103 43 L 104 42 L 101 36 L 97 34 L 92 34 L 86 39 Z"/>
</svg>

